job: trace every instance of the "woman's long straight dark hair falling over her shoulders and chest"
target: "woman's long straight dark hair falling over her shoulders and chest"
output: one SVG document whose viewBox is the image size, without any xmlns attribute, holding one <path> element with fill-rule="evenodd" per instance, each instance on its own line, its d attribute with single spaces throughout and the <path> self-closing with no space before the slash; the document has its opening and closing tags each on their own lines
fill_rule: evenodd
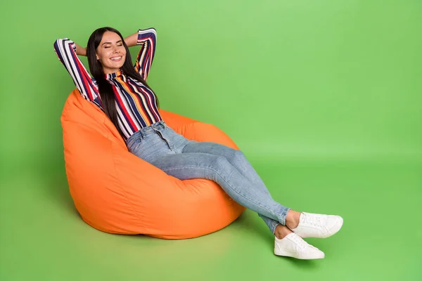
<svg viewBox="0 0 422 281">
<path fill-rule="evenodd" d="M 103 65 L 99 62 L 99 60 L 96 59 L 96 48 L 101 42 L 101 39 L 103 39 L 103 34 L 106 31 L 115 32 L 120 36 L 123 42 L 123 46 L 126 49 L 126 59 L 124 60 L 124 64 L 121 68 L 122 72 L 127 76 L 131 77 L 132 79 L 135 79 L 136 81 L 141 82 L 143 85 L 147 86 L 149 89 L 151 89 L 148 84 L 146 84 L 146 81 L 142 79 L 141 74 L 139 72 L 136 72 L 134 66 L 132 65 L 132 58 L 130 56 L 129 48 L 127 47 L 126 43 L 124 42 L 124 38 L 122 37 L 122 34 L 118 30 L 115 30 L 112 27 L 101 27 L 98 28 L 98 30 L 95 30 L 91 36 L 88 39 L 87 44 L 87 58 L 88 58 L 88 64 L 89 64 L 89 70 L 91 71 L 91 75 L 96 79 L 98 83 L 98 90 L 100 92 L 101 96 L 101 103 L 103 105 L 103 109 L 106 112 L 106 115 L 108 118 L 110 118 L 111 122 L 115 125 L 117 130 L 119 131 L 120 135 L 123 137 L 122 130 L 120 130 L 119 123 L 117 122 L 117 109 L 116 109 L 116 100 L 115 100 L 115 94 L 113 92 L 113 87 L 110 83 L 108 83 L 106 79 L 106 74 L 104 74 L 103 71 Z M 159 107 L 158 98 L 155 95 L 155 100 L 157 101 L 157 107 Z"/>
</svg>

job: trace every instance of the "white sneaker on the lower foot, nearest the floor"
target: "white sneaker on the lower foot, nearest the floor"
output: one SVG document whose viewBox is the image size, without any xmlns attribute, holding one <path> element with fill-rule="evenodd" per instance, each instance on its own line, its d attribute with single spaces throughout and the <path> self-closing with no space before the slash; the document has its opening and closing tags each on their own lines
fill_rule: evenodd
<svg viewBox="0 0 422 281">
<path fill-rule="evenodd" d="M 276 237 L 274 254 L 296 259 L 324 259 L 324 252 L 308 244 L 299 235 L 290 233 L 283 239 Z"/>
</svg>

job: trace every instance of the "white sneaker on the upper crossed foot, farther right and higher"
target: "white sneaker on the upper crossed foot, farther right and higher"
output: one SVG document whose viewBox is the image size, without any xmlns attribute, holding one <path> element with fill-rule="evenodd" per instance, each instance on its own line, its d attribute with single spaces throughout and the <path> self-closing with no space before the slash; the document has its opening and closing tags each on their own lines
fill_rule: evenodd
<svg viewBox="0 0 422 281">
<path fill-rule="evenodd" d="M 342 226 L 341 216 L 302 213 L 298 227 L 290 229 L 302 238 L 326 238 L 337 233 Z"/>
</svg>

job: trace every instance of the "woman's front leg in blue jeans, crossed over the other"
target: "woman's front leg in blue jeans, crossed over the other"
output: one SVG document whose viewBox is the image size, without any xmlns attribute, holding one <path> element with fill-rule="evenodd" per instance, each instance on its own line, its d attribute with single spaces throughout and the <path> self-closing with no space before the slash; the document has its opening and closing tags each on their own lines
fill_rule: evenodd
<svg viewBox="0 0 422 281">
<path fill-rule="evenodd" d="M 272 200 L 267 191 L 248 181 L 225 157 L 186 152 L 162 155 L 150 161 L 170 176 L 181 180 L 207 178 L 218 183 L 236 202 L 258 214 L 284 223 L 288 208 Z"/>
</svg>

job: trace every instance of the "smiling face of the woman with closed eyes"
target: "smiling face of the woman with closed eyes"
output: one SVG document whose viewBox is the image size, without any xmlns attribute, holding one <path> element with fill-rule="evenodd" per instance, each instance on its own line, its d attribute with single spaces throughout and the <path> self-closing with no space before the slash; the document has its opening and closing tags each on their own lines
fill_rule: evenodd
<svg viewBox="0 0 422 281">
<path fill-rule="evenodd" d="M 115 32 L 106 31 L 100 44 L 96 48 L 96 58 L 103 65 L 105 74 L 120 70 L 126 59 L 126 49 L 122 39 Z"/>
</svg>

